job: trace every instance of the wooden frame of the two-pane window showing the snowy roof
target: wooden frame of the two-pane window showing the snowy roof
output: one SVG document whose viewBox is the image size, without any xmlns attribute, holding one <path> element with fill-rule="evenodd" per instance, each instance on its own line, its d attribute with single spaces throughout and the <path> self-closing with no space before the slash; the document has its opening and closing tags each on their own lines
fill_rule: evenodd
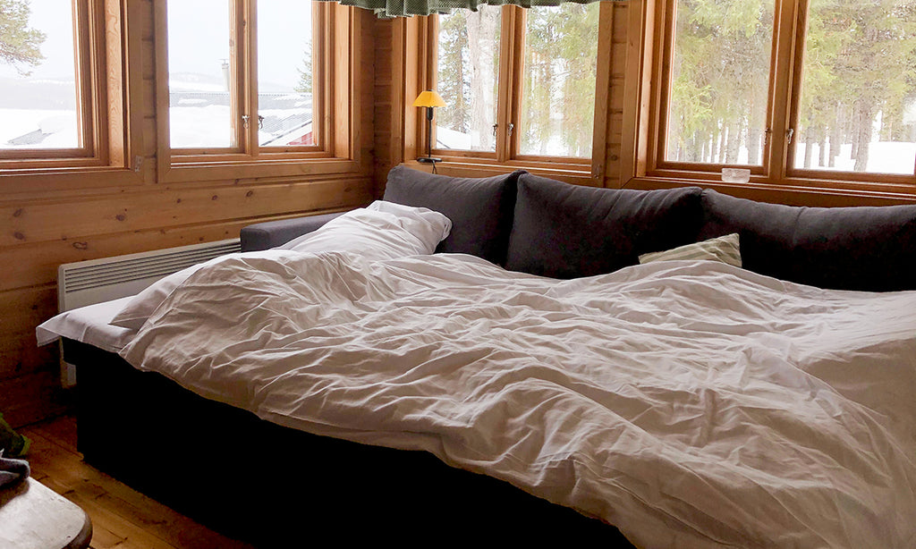
<svg viewBox="0 0 916 549">
<path fill-rule="evenodd" d="M 234 148 L 182 149 L 169 144 L 169 51 L 167 0 L 155 0 L 158 174 L 162 181 L 289 177 L 357 171 L 354 159 L 354 59 L 361 28 L 354 8 L 331 2 L 312 4 L 312 70 L 318 145 L 257 145 L 257 124 L 240 128 Z M 233 63 L 241 113 L 257 112 L 256 0 L 234 0 L 237 40 Z M 252 119 L 255 115 L 249 114 Z"/>
</svg>

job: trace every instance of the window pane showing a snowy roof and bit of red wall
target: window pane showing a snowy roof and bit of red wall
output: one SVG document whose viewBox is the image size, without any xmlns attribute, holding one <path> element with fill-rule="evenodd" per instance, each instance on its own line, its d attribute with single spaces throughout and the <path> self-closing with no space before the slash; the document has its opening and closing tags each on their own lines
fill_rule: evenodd
<svg viewBox="0 0 916 549">
<path fill-rule="evenodd" d="M 315 145 L 311 2 L 257 4 L 257 113 L 262 146 Z"/>
</svg>

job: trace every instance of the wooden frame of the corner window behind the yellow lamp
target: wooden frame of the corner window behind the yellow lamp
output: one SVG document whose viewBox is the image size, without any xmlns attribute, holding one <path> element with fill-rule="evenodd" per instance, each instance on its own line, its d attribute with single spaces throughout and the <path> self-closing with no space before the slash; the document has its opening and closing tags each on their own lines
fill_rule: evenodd
<svg viewBox="0 0 916 549">
<path fill-rule="evenodd" d="M 488 169 L 525 168 L 535 173 L 561 178 L 583 185 L 603 186 L 605 147 L 607 130 L 607 113 L 610 87 L 610 55 L 613 30 L 614 5 L 610 2 L 600 3 L 598 21 L 597 73 L 595 75 L 595 110 L 592 136 L 592 156 L 539 156 L 518 154 L 518 133 L 508 135 L 509 127 L 518 128 L 521 110 L 521 69 L 524 62 L 524 45 L 526 34 L 527 12 L 518 5 L 501 6 L 501 31 L 499 44 L 499 81 L 496 92 L 496 151 L 470 151 L 455 149 L 432 149 L 433 156 L 441 157 L 442 167 L 452 173 L 463 171 L 481 171 Z M 417 32 L 421 51 L 417 56 L 420 78 L 419 87 L 412 97 L 420 91 L 437 89 L 439 16 L 419 17 Z M 412 97 L 406 99 L 407 109 L 417 110 L 411 106 Z M 414 121 L 416 143 L 426 143 L 426 124 L 423 117 L 408 117 Z M 512 124 L 512 126 L 510 126 Z M 435 131 L 433 129 L 433 131 Z M 420 149 L 425 152 L 422 146 Z M 411 149 L 406 156 L 415 154 Z"/>
</svg>

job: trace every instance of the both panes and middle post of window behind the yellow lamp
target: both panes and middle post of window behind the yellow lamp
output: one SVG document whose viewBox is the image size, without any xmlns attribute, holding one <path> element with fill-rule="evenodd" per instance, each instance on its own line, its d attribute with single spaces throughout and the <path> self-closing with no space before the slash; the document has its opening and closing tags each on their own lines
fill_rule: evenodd
<svg viewBox="0 0 916 549">
<path fill-rule="evenodd" d="M 598 19 L 598 3 L 439 16 L 437 155 L 589 162 Z"/>
</svg>

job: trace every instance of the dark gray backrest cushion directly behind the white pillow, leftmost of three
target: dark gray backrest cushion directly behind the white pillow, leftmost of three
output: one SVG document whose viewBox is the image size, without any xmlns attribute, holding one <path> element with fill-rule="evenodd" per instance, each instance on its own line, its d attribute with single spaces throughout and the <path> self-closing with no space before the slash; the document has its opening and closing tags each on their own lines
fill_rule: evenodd
<svg viewBox="0 0 916 549">
<path fill-rule="evenodd" d="M 516 180 L 521 173 L 451 178 L 398 166 L 388 172 L 382 199 L 429 208 L 452 220 L 452 232 L 436 252 L 470 253 L 503 264 L 512 230 Z"/>
</svg>

